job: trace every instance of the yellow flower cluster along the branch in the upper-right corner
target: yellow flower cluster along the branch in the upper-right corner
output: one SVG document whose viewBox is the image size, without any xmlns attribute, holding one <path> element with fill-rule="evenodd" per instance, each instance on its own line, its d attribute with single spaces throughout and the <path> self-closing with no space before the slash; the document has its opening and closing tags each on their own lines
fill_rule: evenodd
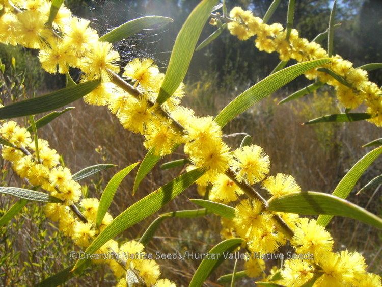
<svg viewBox="0 0 382 287">
<path fill-rule="evenodd" d="M 328 53 L 320 44 L 299 37 L 298 31 L 295 29 L 291 30 L 289 39 L 287 39 L 287 31 L 280 23 L 270 25 L 263 23 L 251 11 L 234 7 L 229 16 L 233 20 L 228 23 L 228 29 L 232 35 L 237 36 L 240 40 L 247 40 L 256 35 L 256 47 L 267 53 L 276 51 L 282 61 L 294 59 L 297 62 L 304 62 L 328 57 Z M 382 91 L 378 85 L 368 80 L 366 71 L 354 68 L 351 62 L 344 60 L 341 56 L 335 55 L 331 59 L 332 61 L 323 67 L 343 77 L 349 84 L 348 86 L 316 69 L 308 71 L 305 76 L 310 80 L 317 79 L 333 86 L 338 100 L 345 108 L 355 109 L 364 103 L 367 107 L 366 112 L 372 116 L 368 121 L 382 126 Z"/>
</svg>

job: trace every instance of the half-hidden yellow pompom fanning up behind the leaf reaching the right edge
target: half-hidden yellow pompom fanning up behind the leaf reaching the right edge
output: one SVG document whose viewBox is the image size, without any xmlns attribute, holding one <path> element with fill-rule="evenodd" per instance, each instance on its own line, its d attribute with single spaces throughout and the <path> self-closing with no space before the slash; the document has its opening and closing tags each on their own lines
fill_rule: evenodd
<svg viewBox="0 0 382 287">
<path fill-rule="evenodd" d="M 269 176 L 262 182 L 262 186 L 272 195 L 271 198 L 301 192 L 301 188 L 296 184 L 294 177 L 282 173 Z"/>
</svg>

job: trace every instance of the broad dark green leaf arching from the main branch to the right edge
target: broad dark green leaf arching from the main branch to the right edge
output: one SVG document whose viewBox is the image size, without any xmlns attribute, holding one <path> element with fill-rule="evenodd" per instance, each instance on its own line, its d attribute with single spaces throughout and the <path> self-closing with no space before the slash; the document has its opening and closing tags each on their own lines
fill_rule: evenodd
<svg viewBox="0 0 382 287">
<path fill-rule="evenodd" d="M 345 199 L 322 192 L 308 191 L 277 197 L 269 201 L 268 210 L 304 215 L 319 214 L 321 220 L 319 217 L 318 223 L 321 225 L 323 225 L 322 221 L 325 217 L 329 217 L 330 220 L 336 215 L 353 218 L 377 228 L 382 228 L 382 218 Z"/>
</svg>

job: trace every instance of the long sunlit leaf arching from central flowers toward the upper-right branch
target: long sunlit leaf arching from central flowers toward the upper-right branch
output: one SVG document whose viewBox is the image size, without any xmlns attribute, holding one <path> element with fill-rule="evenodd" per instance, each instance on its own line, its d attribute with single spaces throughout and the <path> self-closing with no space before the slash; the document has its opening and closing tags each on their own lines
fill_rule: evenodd
<svg viewBox="0 0 382 287">
<path fill-rule="evenodd" d="M 265 79 L 253 85 L 248 90 L 241 93 L 233 101 L 231 101 L 224 109 L 216 116 L 215 121 L 221 127 L 234 119 L 237 115 L 249 109 L 255 103 L 259 102 L 264 97 L 277 91 L 297 76 L 309 71 L 312 68 L 328 63 L 329 59 L 318 59 L 298 63 L 287 67 L 277 73 L 267 76 Z"/>
</svg>

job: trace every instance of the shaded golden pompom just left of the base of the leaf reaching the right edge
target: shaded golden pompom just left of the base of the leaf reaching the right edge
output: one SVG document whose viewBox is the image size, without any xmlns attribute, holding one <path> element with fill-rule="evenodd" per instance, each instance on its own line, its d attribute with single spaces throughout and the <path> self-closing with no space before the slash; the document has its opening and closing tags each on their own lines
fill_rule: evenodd
<svg viewBox="0 0 382 287">
<path fill-rule="evenodd" d="M 263 206 L 259 200 L 245 199 L 235 207 L 233 223 L 240 237 L 251 238 L 258 230 L 269 229 L 270 216 L 262 213 Z"/>
</svg>

